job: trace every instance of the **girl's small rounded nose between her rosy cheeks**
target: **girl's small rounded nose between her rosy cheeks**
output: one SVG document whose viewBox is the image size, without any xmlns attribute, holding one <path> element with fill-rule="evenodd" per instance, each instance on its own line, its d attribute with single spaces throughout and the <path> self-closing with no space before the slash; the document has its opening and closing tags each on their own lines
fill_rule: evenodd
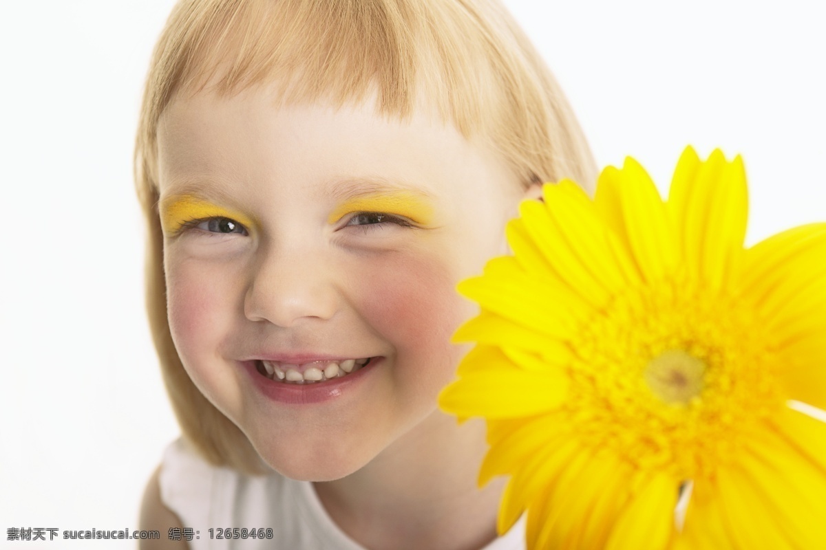
<svg viewBox="0 0 826 550">
<path fill-rule="evenodd" d="M 250 321 L 285 328 L 300 319 L 329 319 L 339 303 L 333 274 L 317 254 L 268 252 L 260 259 L 244 296 L 244 315 Z"/>
</svg>

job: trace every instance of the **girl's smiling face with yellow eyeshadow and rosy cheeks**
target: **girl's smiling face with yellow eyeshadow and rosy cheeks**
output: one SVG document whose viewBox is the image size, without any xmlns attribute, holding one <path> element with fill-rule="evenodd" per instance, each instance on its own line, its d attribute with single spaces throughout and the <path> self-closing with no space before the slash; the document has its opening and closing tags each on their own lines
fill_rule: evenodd
<svg viewBox="0 0 826 550">
<path fill-rule="evenodd" d="M 455 285 L 506 251 L 524 195 L 496 153 L 424 112 L 264 91 L 173 101 L 159 184 L 188 374 L 265 462 L 316 481 L 441 414 L 466 351 L 449 338 L 476 313 Z"/>
</svg>

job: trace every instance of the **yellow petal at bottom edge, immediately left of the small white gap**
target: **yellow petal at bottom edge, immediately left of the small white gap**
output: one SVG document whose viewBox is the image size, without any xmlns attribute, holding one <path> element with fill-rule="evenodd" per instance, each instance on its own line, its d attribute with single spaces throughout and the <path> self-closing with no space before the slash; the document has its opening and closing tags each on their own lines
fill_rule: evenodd
<svg viewBox="0 0 826 550">
<path fill-rule="evenodd" d="M 661 550 L 672 537 L 677 484 L 664 473 L 648 475 L 638 492 L 631 496 L 627 510 L 619 516 L 610 534 L 607 550 Z"/>
</svg>

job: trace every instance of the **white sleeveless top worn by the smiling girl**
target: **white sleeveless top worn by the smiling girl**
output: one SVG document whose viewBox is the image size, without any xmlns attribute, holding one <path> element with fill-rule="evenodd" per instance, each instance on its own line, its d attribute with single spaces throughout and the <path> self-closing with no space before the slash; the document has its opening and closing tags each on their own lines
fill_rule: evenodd
<svg viewBox="0 0 826 550">
<path fill-rule="evenodd" d="M 330 519 L 311 482 L 276 472 L 247 476 L 216 468 L 183 440 L 173 441 L 164 451 L 159 484 L 164 504 L 184 528 L 193 529 L 188 541 L 192 550 L 366 550 Z M 236 527 L 239 534 L 240 529 L 255 529 L 264 538 L 227 538 Z M 230 534 L 218 538 L 219 529 L 230 529 Z M 524 548 L 525 516 L 482 550 Z"/>
</svg>

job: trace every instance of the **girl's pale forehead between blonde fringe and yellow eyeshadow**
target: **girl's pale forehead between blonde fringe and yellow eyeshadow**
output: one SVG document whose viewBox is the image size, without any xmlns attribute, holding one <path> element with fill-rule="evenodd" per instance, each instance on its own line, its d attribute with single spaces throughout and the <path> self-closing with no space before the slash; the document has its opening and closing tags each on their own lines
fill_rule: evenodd
<svg viewBox="0 0 826 550">
<path fill-rule="evenodd" d="M 377 114 L 374 101 L 279 105 L 260 90 L 173 101 L 159 122 L 158 160 L 162 199 L 226 188 L 274 195 L 277 186 L 282 195 L 411 204 L 467 193 L 465 182 L 485 172 L 518 187 L 501 156 L 431 112 L 397 120 Z"/>
</svg>

